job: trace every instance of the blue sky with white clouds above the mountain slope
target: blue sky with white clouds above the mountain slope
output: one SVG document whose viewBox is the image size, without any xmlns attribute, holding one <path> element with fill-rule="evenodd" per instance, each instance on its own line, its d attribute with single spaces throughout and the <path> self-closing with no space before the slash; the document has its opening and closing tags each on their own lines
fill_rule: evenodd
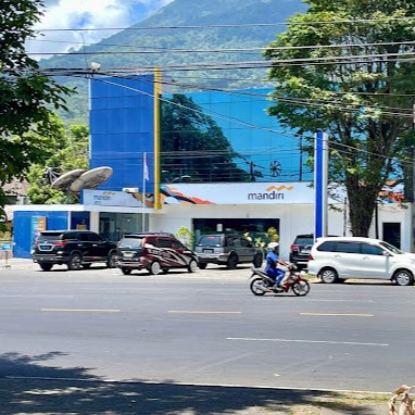
<svg viewBox="0 0 415 415">
<path fill-rule="evenodd" d="M 139 23 L 172 1 L 46 0 L 45 16 L 36 26 L 36 29 L 46 32 L 43 36 L 27 42 L 27 50 L 30 53 L 62 53 L 71 48 L 96 43 L 118 32 L 114 28 L 123 29 Z M 77 32 L 79 28 L 88 30 Z"/>
</svg>

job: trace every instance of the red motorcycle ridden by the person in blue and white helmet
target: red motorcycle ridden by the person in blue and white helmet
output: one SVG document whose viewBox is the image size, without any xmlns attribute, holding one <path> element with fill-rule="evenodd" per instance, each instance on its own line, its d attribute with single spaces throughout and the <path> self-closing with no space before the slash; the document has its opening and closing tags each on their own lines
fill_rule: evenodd
<svg viewBox="0 0 415 415">
<path fill-rule="evenodd" d="M 252 275 L 250 277 L 250 289 L 254 295 L 264 295 L 267 292 L 273 293 L 289 293 L 293 292 L 295 295 L 306 295 L 310 292 L 310 282 L 301 276 L 297 266 L 290 264 L 288 267 L 288 278 L 282 286 L 275 285 L 272 277 L 260 269 L 252 267 Z"/>
</svg>

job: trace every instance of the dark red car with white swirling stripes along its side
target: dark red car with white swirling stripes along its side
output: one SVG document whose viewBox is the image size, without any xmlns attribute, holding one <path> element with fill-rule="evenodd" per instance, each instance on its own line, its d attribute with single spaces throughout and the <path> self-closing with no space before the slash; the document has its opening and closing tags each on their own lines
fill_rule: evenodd
<svg viewBox="0 0 415 415">
<path fill-rule="evenodd" d="M 123 274 L 147 269 L 150 274 L 172 268 L 198 269 L 198 256 L 172 234 L 126 234 L 117 244 L 117 267 Z"/>
</svg>

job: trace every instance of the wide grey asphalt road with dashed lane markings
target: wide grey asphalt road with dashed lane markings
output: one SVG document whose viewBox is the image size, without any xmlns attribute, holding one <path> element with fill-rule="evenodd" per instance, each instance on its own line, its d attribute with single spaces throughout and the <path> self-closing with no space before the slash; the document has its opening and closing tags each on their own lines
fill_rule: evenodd
<svg viewBox="0 0 415 415">
<path fill-rule="evenodd" d="M 414 383 L 413 287 L 312 284 L 305 298 L 257 298 L 248 266 L 124 276 L 9 264 L 0 373 L 10 381 L 387 393 Z"/>
</svg>

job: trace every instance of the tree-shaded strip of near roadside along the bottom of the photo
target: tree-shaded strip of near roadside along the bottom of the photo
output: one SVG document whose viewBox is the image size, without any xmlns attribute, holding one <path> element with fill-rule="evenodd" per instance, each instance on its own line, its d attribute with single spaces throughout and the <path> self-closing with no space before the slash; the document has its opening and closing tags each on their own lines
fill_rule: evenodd
<svg viewBox="0 0 415 415">
<path fill-rule="evenodd" d="M 146 382 L 105 381 L 89 375 L 88 368 L 48 367 L 60 352 L 27 356 L 0 355 L 1 414 L 323 414 L 383 413 L 387 398 L 376 402 L 360 392 L 350 399 L 342 393 L 318 390 L 290 390 L 224 386 L 179 385 L 173 379 Z M 139 368 L 138 368 L 139 372 Z M 293 412 L 305 407 L 309 412 Z M 313 412 L 310 412 L 313 411 Z M 332 412 L 330 412 L 332 413 Z"/>
</svg>

